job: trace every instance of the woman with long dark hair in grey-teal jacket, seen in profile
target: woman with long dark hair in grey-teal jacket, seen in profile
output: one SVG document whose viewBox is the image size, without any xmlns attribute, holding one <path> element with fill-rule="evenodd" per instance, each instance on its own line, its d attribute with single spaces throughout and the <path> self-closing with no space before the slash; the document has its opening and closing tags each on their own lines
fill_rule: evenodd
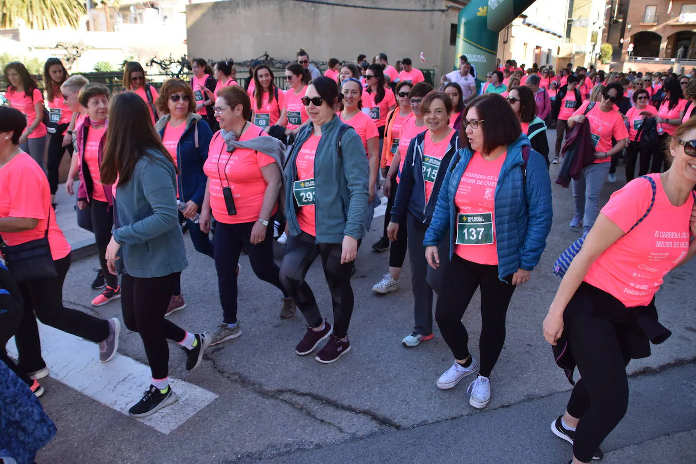
<svg viewBox="0 0 696 464">
<path fill-rule="evenodd" d="M 164 319 L 173 289 L 188 262 L 176 205 L 174 160 L 147 116 L 145 101 L 132 92 L 113 97 L 109 140 L 100 175 L 113 186 L 116 226 L 106 248 L 110 273 L 121 273 L 123 322 L 139 333 L 152 373 L 150 387 L 128 413 L 145 417 L 177 401 L 169 386 L 169 347 L 186 353 L 186 369 L 200 365 L 209 335 L 193 334 Z"/>
</svg>

